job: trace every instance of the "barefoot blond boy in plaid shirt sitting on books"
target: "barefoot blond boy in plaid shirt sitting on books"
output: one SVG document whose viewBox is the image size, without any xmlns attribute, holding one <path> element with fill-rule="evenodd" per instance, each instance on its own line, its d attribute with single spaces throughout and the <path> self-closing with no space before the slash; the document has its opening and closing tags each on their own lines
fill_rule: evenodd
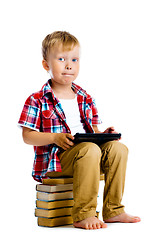
<svg viewBox="0 0 160 240">
<path fill-rule="evenodd" d="M 73 176 L 74 226 L 107 227 L 106 222 L 139 222 L 121 204 L 128 149 L 118 141 L 100 146 L 73 143 L 76 132 L 99 133 L 94 99 L 74 80 L 79 72 L 78 40 L 68 32 L 53 32 L 42 43 L 42 65 L 51 79 L 25 102 L 19 124 L 23 139 L 34 146 L 33 178 Z M 113 127 L 104 132 L 115 132 Z M 100 171 L 105 174 L 103 220 L 96 216 Z"/>
</svg>

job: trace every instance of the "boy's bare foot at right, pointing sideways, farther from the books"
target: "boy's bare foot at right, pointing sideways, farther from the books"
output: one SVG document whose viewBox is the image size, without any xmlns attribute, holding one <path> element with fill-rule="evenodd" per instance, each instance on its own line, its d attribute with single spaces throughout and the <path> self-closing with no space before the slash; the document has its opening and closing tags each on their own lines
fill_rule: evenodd
<svg viewBox="0 0 160 240">
<path fill-rule="evenodd" d="M 127 213 L 121 213 L 120 215 L 104 220 L 104 222 L 108 222 L 108 223 L 113 223 L 113 222 L 136 223 L 140 221 L 141 219 L 139 217 L 131 216 Z"/>
</svg>

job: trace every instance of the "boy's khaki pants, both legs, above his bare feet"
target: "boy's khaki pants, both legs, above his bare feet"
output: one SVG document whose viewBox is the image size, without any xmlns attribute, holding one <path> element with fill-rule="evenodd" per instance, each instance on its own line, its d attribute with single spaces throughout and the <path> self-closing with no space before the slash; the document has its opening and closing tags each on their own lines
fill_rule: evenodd
<svg viewBox="0 0 160 240">
<path fill-rule="evenodd" d="M 96 216 L 100 172 L 105 174 L 103 220 L 124 212 L 121 200 L 128 157 L 128 149 L 124 144 L 111 141 L 98 146 L 82 142 L 58 156 L 62 172 L 47 173 L 47 176 L 73 176 L 74 222 Z"/>
</svg>

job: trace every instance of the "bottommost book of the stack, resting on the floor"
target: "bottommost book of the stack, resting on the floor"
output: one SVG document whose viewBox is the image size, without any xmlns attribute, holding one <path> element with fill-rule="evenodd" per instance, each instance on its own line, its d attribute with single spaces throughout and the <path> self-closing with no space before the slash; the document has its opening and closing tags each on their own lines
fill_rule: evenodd
<svg viewBox="0 0 160 240">
<path fill-rule="evenodd" d="M 63 217 L 57 217 L 57 218 L 38 217 L 38 226 L 57 227 L 57 226 L 63 226 L 68 224 L 73 224 L 73 219 L 71 216 L 63 216 Z"/>
</svg>

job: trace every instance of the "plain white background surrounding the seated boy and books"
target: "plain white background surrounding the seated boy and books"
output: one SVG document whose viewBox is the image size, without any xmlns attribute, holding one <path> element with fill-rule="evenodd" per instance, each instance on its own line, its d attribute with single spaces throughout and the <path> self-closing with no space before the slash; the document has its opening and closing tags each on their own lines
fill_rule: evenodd
<svg viewBox="0 0 160 240">
<path fill-rule="evenodd" d="M 159 239 L 159 13 L 155 0 L 0 4 L 3 239 Z M 81 66 L 75 83 L 95 97 L 101 130 L 114 126 L 130 150 L 123 203 L 141 223 L 108 224 L 96 231 L 37 226 L 33 147 L 23 143 L 17 122 L 26 98 L 49 78 L 41 64 L 41 42 L 56 30 L 79 39 Z"/>
</svg>

